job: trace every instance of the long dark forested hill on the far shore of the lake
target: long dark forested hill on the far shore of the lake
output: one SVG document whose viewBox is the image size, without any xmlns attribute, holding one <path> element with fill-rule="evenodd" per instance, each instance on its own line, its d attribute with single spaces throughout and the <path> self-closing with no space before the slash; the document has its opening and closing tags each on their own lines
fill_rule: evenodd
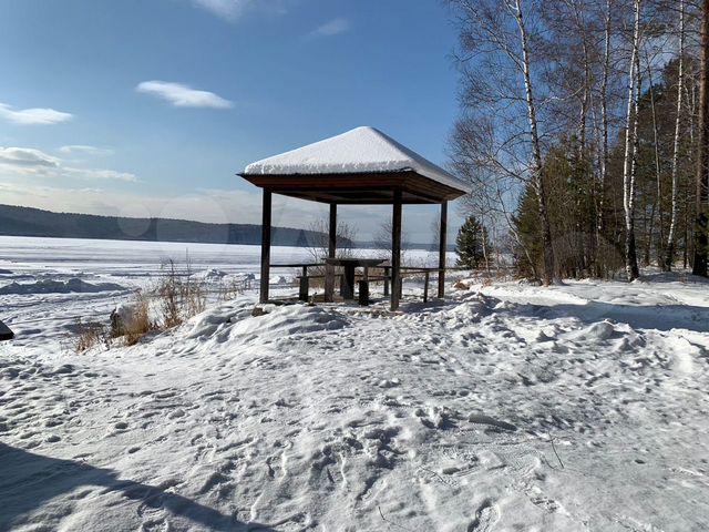
<svg viewBox="0 0 709 532">
<path fill-rule="evenodd" d="M 260 225 L 52 213 L 13 205 L 0 205 L 0 235 L 213 244 L 261 243 Z M 322 242 L 323 235 L 306 229 L 274 227 L 271 238 L 275 246 L 308 247 L 312 242 Z"/>
</svg>

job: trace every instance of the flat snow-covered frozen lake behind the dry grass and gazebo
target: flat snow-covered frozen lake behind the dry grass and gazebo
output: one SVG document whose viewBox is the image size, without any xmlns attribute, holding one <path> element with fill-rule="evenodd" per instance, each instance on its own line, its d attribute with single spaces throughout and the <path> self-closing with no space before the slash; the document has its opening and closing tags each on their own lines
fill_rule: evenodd
<svg viewBox="0 0 709 532">
<path fill-rule="evenodd" d="M 361 256 L 381 250 L 357 249 Z M 449 254 L 454 260 L 454 254 Z M 435 254 L 407 250 L 410 264 L 434 264 Z M 136 289 L 154 287 L 173 260 L 176 269 L 204 275 L 209 270 L 228 280 L 259 275 L 260 247 L 181 242 L 101 241 L 0 236 L 0 319 L 20 342 L 28 345 L 71 336 L 76 323 L 105 321 L 111 310 Z M 271 248 L 273 264 L 314 262 L 302 247 Z M 296 275 L 294 268 L 274 268 L 271 283 Z M 256 284 L 254 284 L 256 287 Z M 282 294 L 295 287 L 276 288 Z"/>
</svg>

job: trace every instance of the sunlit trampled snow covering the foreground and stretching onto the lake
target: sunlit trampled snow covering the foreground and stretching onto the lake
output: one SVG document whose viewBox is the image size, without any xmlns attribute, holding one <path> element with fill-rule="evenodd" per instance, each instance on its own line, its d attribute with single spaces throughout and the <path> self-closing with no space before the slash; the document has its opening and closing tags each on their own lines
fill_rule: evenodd
<svg viewBox="0 0 709 532">
<path fill-rule="evenodd" d="M 69 242 L 3 239 L 0 289 L 130 291 L 145 249 L 160 264 L 155 244 Z M 256 267 L 193 247 L 195 270 Z M 0 530 L 709 530 L 709 284 L 691 277 L 471 284 L 397 314 L 253 317 L 246 294 L 84 355 L 61 320 L 125 296 L 66 290 L 0 291 L 18 332 Z"/>
</svg>

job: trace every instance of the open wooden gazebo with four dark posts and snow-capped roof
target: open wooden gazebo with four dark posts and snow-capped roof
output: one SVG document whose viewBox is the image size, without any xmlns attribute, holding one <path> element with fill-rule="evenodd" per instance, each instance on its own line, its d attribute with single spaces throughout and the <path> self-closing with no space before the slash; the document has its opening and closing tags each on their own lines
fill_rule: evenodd
<svg viewBox="0 0 709 532">
<path fill-rule="evenodd" d="M 268 301 L 271 196 L 330 205 L 328 257 L 335 258 L 338 205 L 392 205 L 391 309 L 399 308 L 401 284 L 401 208 L 440 204 L 439 297 L 444 296 L 448 202 L 471 192 L 443 168 L 373 127 L 341 135 L 249 164 L 240 174 L 263 188 L 260 301 Z"/>
</svg>

